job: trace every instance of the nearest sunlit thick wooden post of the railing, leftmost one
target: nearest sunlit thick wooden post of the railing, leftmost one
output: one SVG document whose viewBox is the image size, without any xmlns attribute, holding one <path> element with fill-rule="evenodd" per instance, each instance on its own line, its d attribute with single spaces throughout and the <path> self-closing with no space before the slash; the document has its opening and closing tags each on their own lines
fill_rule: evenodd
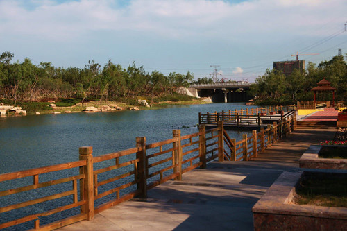
<svg viewBox="0 0 347 231">
<path fill-rule="evenodd" d="M 85 160 L 87 165 L 80 168 L 80 173 L 85 174 L 85 178 L 81 180 L 80 197 L 85 200 L 85 205 L 81 207 L 81 212 L 87 214 L 87 220 L 94 219 L 94 182 L 93 182 L 93 147 L 79 148 L 79 160 Z"/>
</svg>

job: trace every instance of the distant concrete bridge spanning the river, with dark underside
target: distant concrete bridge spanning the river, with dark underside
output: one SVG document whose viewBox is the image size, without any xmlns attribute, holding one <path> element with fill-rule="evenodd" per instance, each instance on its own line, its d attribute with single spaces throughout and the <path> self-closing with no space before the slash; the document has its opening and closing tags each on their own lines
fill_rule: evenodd
<svg viewBox="0 0 347 231">
<path fill-rule="evenodd" d="M 194 96 L 211 97 L 212 102 L 246 102 L 251 99 L 246 93 L 252 83 L 239 81 L 235 83 L 211 83 L 190 85 L 189 92 Z"/>
</svg>

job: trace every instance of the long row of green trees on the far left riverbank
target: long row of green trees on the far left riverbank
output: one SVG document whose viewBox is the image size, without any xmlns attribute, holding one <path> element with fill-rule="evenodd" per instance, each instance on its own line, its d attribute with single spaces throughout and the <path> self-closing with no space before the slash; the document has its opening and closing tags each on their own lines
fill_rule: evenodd
<svg viewBox="0 0 347 231">
<path fill-rule="evenodd" d="M 173 93 L 177 87 L 188 87 L 193 74 L 159 71 L 148 73 L 135 62 L 127 68 L 109 61 L 101 67 L 94 60 L 84 68 L 53 67 L 51 62 L 34 65 L 29 58 L 11 62 L 13 54 L 0 55 L 0 99 L 37 101 L 42 98 L 86 98 L 118 100 L 124 97 L 158 96 Z"/>
</svg>

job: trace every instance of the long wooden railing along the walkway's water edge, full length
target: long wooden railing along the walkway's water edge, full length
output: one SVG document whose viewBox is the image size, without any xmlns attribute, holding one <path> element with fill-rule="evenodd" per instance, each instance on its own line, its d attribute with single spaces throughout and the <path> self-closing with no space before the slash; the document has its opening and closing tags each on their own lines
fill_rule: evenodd
<svg viewBox="0 0 347 231">
<path fill-rule="evenodd" d="M 94 214 L 135 196 L 146 198 L 149 189 L 167 180 L 181 180 L 183 173 L 205 168 L 212 160 L 256 157 L 295 127 L 295 115 L 291 115 L 236 141 L 224 130 L 223 121 L 218 121 L 217 128 L 207 130 L 202 125 L 190 135 L 173 130 L 171 139 L 153 144 L 137 137 L 134 148 L 101 156 L 94 157 L 92 147 L 81 147 L 79 161 L 1 174 L 0 229 L 29 222 L 26 227 L 53 230 L 92 220 Z M 6 184 L 11 181 L 15 183 Z M 19 202 L 13 203 L 13 196 Z M 51 204 L 46 207 L 46 203 Z M 49 219 L 60 213 L 58 219 Z"/>
</svg>

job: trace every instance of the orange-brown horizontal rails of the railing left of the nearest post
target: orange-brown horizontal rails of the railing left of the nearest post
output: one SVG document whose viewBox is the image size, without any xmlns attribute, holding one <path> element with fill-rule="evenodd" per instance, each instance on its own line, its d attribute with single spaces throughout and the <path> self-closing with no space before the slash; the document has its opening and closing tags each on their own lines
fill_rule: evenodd
<svg viewBox="0 0 347 231">
<path fill-rule="evenodd" d="M 51 172 L 58 172 L 58 171 L 65 171 L 67 169 L 76 169 L 80 168 L 81 173 L 72 175 L 72 176 L 67 176 L 65 178 L 59 178 L 55 180 L 48 180 L 46 182 L 40 182 L 40 176 L 42 176 L 44 173 L 51 173 Z M 53 165 L 53 166 L 46 166 L 38 169 L 31 169 L 31 170 L 26 170 L 26 171 L 17 171 L 13 173 L 4 173 L 0 175 L 0 182 L 1 185 L 3 185 L 3 182 L 8 181 L 8 180 L 15 180 L 15 179 L 20 179 L 20 178 L 33 178 L 33 184 L 31 185 L 25 185 L 22 187 L 17 187 L 15 189 L 7 189 L 5 191 L 0 191 L 0 197 L 3 196 L 8 196 L 10 197 L 11 195 L 17 194 L 19 197 L 21 197 L 22 194 L 26 193 L 27 191 L 38 191 L 40 188 L 47 188 L 47 187 L 52 187 L 54 185 L 62 185 L 67 182 L 71 182 L 71 189 L 66 190 L 65 187 L 60 187 L 60 192 L 57 194 L 51 194 L 49 196 L 42 196 L 42 197 L 37 197 L 35 199 L 31 200 L 26 200 L 25 202 L 22 203 L 15 203 L 15 204 L 9 204 L 6 206 L 0 207 L 0 214 L 6 214 L 8 212 L 14 211 L 15 209 L 20 209 L 23 207 L 30 207 L 31 205 L 37 205 L 40 203 L 44 203 L 49 200 L 56 200 L 58 198 L 63 198 L 66 196 L 72 196 L 71 200 L 69 203 L 63 206 L 57 206 L 54 209 L 49 209 L 48 211 L 45 212 L 38 212 L 38 213 L 33 213 L 27 216 L 22 216 L 21 218 L 12 220 L 12 221 L 7 221 L 5 223 L 0 224 L 0 229 L 2 228 L 7 228 L 12 225 L 17 225 L 19 223 L 25 223 L 28 221 L 35 221 L 34 223 L 34 228 L 40 228 L 40 217 L 41 216 L 49 216 L 51 214 L 56 214 L 58 212 L 65 211 L 67 209 L 72 209 L 74 207 L 83 207 L 83 209 L 87 206 L 87 198 L 84 196 L 84 189 L 81 190 L 81 198 L 78 200 L 78 187 L 77 183 L 78 180 L 85 181 L 87 178 L 85 174 L 85 169 L 87 168 L 87 162 L 85 160 L 80 160 L 76 162 L 69 162 L 66 164 L 58 164 L 58 165 Z M 78 172 L 78 171 L 77 171 Z M 3 187 L 1 187 L 3 189 Z M 87 219 L 87 214 L 81 213 L 76 216 L 69 217 L 68 219 L 65 219 L 64 221 L 60 221 L 59 224 L 54 223 L 50 226 L 51 229 L 61 227 L 63 225 L 67 225 L 69 223 L 75 223 L 78 221 L 82 221 Z"/>
</svg>

